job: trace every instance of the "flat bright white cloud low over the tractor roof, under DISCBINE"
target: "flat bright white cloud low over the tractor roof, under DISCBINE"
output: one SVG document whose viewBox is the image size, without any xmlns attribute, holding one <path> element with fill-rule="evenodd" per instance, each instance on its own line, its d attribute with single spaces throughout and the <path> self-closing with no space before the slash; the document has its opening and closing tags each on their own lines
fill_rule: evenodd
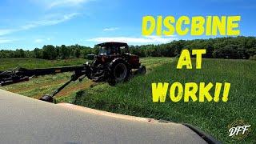
<svg viewBox="0 0 256 144">
<path fill-rule="evenodd" d="M 167 43 L 176 40 L 175 36 L 159 37 L 159 36 L 147 36 L 142 38 L 132 37 L 99 37 L 87 39 L 89 42 L 127 42 L 138 44 L 154 44 L 154 43 Z"/>
</svg>

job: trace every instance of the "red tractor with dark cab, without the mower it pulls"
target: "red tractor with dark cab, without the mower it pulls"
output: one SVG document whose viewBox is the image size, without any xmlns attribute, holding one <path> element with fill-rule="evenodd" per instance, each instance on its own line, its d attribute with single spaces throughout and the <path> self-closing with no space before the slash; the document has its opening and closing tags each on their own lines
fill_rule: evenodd
<svg viewBox="0 0 256 144">
<path fill-rule="evenodd" d="M 98 55 L 94 55 L 94 61 L 89 65 L 87 78 L 95 82 L 106 81 L 113 86 L 117 82 L 128 80 L 133 69 L 140 74 L 146 73 L 146 67 L 141 66 L 137 55 L 130 54 L 126 43 L 105 42 L 96 46 Z"/>
</svg>

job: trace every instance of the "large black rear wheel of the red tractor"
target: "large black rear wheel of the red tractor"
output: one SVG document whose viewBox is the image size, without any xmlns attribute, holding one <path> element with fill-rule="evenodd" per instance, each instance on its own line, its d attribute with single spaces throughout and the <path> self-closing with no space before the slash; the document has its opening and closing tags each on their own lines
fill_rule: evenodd
<svg viewBox="0 0 256 144">
<path fill-rule="evenodd" d="M 130 68 L 122 59 L 114 61 L 110 66 L 110 78 L 108 83 L 114 86 L 118 82 L 124 82 L 130 77 Z"/>
</svg>

